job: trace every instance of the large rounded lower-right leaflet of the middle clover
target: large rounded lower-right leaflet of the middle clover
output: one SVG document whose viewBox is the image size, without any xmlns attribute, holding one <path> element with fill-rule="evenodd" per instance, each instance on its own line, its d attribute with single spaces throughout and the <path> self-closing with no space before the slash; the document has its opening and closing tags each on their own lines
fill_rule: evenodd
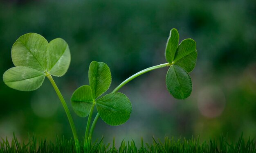
<svg viewBox="0 0 256 153">
<path fill-rule="evenodd" d="M 132 112 L 129 98 L 120 92 L 99 98 L 96 107 L 102 120 L 112 126 L 124 124 Z"/>
</svg>

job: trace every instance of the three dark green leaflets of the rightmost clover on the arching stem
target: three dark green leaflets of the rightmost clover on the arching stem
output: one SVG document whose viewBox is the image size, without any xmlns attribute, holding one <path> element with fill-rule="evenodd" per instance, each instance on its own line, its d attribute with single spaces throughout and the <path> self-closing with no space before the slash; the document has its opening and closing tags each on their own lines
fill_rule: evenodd
<svg viewBox="0 0 256 153">
<path fill-rule="evenodd" d="M 193 39 L 184 39 L 179 44 L 179 33 L 173 28 L 167 40 L 165 58 L 172 64 L 166 74 L 168 91 L 177 99 L 185 99 L 192 92 L 189 76 L 195 68 L 197 59 L 196 43 Z"/>
</svg>

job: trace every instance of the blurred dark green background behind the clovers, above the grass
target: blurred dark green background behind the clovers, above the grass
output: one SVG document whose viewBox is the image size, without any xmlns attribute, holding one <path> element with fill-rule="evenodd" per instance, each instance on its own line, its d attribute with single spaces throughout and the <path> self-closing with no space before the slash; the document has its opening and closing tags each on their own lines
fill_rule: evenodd
<svg viewBox="0 0 256 153">
<path fill-rule="evenodd" d="M 0 74 L 13 67 L 11 47 L 25 33 L 48 41 L 61 37 L 72 61 L 64 77 L 54 77 L 82 139 L 87 118 L 74 114 L 72 92 L 88 84 L 91 61 L 108 64 L 111 92 L 130 75 L 166 63 L 164 49 L 171 28 L 180 41 L 197 42 L 198 62 L 191 73 L 193 92 L 176 100 L 167 91 L 167 68 L 144 74 L 120 92 L 132 102 L 128 122 L 111 127 L 99 119 L 94 139 L 115 137 L 120 143 L 143 137 L 221 134 L 256 137 L 256 1 L 255 0 L 0 0 Z M 0 137 L 20 140 L 28 132 L 54 140 L 72 137 L 65 111 L 49 80 L 33 92 L 21 92 L 0 79 Z M 96 113 L 96 112 L 95 112 Z"/>
</svg>

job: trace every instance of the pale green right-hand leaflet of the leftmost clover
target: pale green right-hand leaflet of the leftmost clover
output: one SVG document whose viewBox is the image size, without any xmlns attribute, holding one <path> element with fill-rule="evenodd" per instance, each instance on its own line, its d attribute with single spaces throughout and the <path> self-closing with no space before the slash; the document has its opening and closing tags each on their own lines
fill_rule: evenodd
<svg viewBox="0 0 256 153">
<path fill-rule="evenodd" d="M 70 49 L 61 38 L 53 39 L 49 42 L 47 48 L 47 71 L 56 76 L 61 77 L 70 66 Z"/>
</svg>

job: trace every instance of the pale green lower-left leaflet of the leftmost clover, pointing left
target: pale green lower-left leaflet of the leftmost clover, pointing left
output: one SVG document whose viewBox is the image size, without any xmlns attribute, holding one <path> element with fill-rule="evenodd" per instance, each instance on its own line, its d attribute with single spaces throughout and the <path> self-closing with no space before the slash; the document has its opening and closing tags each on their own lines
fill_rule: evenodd
<svg viewBox="0 0 256 153">
<path fill-rule="evenodd" d="M 33 91 L 38 89 L 45 79 L 45 73 L 24 66 L 16 66 L 4 72 L 4 83 L 16 90 Z"/>
</svg>

